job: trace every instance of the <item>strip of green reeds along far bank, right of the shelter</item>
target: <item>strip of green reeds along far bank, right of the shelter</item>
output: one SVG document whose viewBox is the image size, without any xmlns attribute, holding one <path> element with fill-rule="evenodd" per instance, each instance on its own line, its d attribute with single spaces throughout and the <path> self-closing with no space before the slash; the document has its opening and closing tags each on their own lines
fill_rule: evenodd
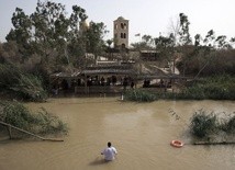
<svg viewBox="0 0 235 170">
<path fill-rule="evenodd" d="M 174 100 L 235 100 L 235 77 L 228 75 L 202 78 L 180 89 L 180 92 L 152 89 L 128 90 L 126 100 L 152 102 L 158 99 Z"/>
</svg>

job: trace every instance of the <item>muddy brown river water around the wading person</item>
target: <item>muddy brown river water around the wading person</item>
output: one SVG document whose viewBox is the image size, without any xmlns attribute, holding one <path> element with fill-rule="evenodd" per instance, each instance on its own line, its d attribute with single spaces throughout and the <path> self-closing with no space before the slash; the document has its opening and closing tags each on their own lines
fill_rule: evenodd
<svg viewBox="0 0 235 170">
<path fill-rule="evenodd" d="M 119 98 L 51 99 L 29 103 L 69 126 L 63 143 L 0 141 L 0 170 L 234 170 L 235 146 L 193 146 L 186 131 L 200 109 L 232 113 L 233 101 L 122 102 Z M 175 111 L 180 117 L 177 120 Z M 172 139 L 186 143 L 170 146 Z M 100 151 L 112 141 L 119 154 L 104 162 Z"/>
</svg>

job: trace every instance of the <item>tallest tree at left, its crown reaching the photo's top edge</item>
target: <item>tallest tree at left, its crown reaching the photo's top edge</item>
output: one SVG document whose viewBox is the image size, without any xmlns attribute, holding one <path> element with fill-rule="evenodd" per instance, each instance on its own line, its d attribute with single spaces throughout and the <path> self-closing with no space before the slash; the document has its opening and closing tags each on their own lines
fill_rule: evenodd
<svg viewBox="0 0 235 170">
<path fill-rule="evenodd" d="M 69 20 L 65 5 L 51 1 L 37 2 L 36 11 L 31 14 L 34 26 L 35 52 L 42 56 L 42 63 L 52 59 L 59 63 L 66 48 Z M 51 60 L 51 61 L 49 61 Z"/>
</svg>

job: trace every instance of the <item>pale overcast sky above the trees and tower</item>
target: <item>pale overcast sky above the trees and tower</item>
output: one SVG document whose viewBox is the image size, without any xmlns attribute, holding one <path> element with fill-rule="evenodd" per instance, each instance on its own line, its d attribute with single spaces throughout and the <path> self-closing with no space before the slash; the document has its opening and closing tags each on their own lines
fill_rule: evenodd
<svg viewBox="0 0 235 170">
<path fill-rule="evenodd" d="M 44 1 L 44 0 L 41 0 Z M 139 41 L 135 34 L 159 36 L 169 32 L 170 21 L 177 21 L 179 13 L 188 15 L 190 34 L 205 35 L 214 30 L 216 36 L 235 37 L 235 0 L 52 0 L 66 5 L 68 14 L 71 5 L 86 10 L 88 21 L 103 22 L 113 37 L 113 21 L 119 16 L 130 20 L 130 43 Z M 26 14 L 35 11 L 37 0 L 0 0 L 0 42 L 12 27 L 11 16 L 16 7 Z"/>
</svg>

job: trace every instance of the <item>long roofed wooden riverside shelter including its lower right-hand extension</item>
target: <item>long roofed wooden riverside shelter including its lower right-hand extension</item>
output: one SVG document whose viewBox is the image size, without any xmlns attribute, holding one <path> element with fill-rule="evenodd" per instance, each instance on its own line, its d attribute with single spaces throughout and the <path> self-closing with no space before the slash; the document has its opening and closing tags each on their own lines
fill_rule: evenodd
<svg viewBox="0 0 235 170">
<path fill-rule="evenodd" d="M 184 83 L 191 78 L 163 71 L 139 73 L 133 65 L 105 65 L 87 67 L 80 71 L 57 72 L 51 76 L 54 94 L 101 94 L 122 93 L 131 83 L 143 88 L 171 88 L 175 82 Z M 150 84 L 154 80 L 157 83 Z M 143 86 L 142 86 L 143 84 Z"/>
</svg>

